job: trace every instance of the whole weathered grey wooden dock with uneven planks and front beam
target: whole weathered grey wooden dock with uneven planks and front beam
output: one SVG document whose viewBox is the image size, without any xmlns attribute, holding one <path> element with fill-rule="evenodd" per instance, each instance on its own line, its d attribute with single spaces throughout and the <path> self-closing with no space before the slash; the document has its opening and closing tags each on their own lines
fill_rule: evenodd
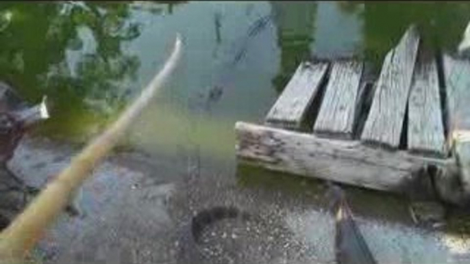
<svg viewBox="0 0 470 264">
<path fill-rule="evenodd" d="M 354 59 L 301 63 L 264 124 L 236 123 L 238 161 L 467 202 L 469 111 L 459 102 L 470 98 L 470 60 L 425 51 L 411 26 L 373 85 L 363 72 Z"/>
</svg>

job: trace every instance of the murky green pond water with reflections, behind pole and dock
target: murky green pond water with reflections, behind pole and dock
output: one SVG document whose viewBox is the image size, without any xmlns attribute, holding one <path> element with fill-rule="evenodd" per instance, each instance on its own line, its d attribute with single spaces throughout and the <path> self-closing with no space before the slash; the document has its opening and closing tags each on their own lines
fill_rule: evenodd
<svg viewBox="0 0 470 264">
<path fill-rule="evenodd" d="M 469 14 L 469 3 L 1 3 L 0 79 L 32 103 L 49 96 L 42 135 L 83 141 L 145 86 L 180 32 L 182 64 L 127 143 L 232 156 L 234 122 L 262 120 L 301 60 L 356 55 L 378 67 L 410 23 L 454 50 Z"/>
</svg>

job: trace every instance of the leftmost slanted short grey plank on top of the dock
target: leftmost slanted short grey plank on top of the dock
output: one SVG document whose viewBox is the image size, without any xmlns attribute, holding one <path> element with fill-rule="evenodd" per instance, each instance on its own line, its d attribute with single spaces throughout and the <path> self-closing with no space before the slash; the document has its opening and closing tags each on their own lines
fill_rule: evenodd
<svg viewBox="0 0 470 264">
<path fill-rule="evenodd" d="M 301 63 L 267 114 L 267 124 L 299 129 L 306 111 L 319 91 L 327 66 L 328 64 L 324 62 Z"/>
</svg>

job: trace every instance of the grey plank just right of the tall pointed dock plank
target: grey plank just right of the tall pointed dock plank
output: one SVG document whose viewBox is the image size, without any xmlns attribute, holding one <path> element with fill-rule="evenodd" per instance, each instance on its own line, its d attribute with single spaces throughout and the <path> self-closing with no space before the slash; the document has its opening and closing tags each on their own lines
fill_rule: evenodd
<svg viewBox="0 0 470 264">
<path fill-rule="evenodd" d="M 447 156 L 436 60 L 419 56 L 408 101 L 408 149 Z"/>
</svg>

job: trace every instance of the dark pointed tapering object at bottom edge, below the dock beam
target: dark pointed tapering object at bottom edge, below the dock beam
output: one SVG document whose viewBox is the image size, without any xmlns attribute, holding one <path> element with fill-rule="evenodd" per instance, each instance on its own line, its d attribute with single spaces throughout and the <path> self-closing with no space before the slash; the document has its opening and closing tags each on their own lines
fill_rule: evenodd
<svg viewBox="0 0 470 264">
<path fill-rule="evenodd" d="M 343 190 L 331 184 L 330 194 L 334 196 L 333 206 L 336 211 L 336 233 L 334 238 L 336 261 L 340 264 L 376 263 L 367 243 L 364 241 L 364 237 L 362 237 L 358 226 L 354 222 Z"/>
</svg>

